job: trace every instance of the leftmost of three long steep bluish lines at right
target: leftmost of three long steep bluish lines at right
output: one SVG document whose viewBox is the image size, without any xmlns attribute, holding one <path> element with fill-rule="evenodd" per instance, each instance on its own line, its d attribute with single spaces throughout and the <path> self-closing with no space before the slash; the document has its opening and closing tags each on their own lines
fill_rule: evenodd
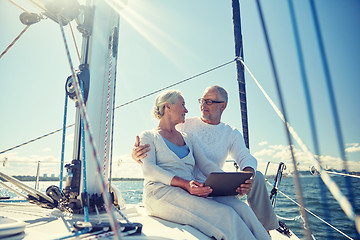
<svg viewBox="0 0 360 240">
<path fill-rule="evenodd" d="M 267 49 L 268 49 L 268 53 L 269 53 L 269 57 L 270 57 L 270 62 L 271 62 L 271 66 L 272 66 L 272 72 L 273 72 L 273 76 L 274 76 L 274 81 L 275 81 L 275 84 L 276 84 L 277 94 L 278 94 L 281 110 L 283 112 L 283 116 L 284 116 L 284 120 L 285 120 L 284 127 L 285 127 L 286 136 L 287 136 L 287 141 L 289 143 L 289 147 L 290 147 L 290 151 L 291 151 L 291 158 L 292 158 L 292 162 L 293 162 L 293 166 L 294 166 L 294 172 L 295 172 L 295 179 L 294 179 L 295 189 L 296 189 L 297 197 L 299 199 L 300 204 L 302 206 L 305 206 L 303 196 L 302 196 L 302 191 L 301 191 L 299 173 L 298 173 L 297 167 L 296 167 L 294 149 L 293 149 L 292 140 L 291 140 L 291 137 L 290 137 L 289 128 L 288 128 L 288 125 L 287 125 L 288 120 L 287 120 L 287 116 L 286 116 L 287 114 L 286 114 L 286 111 L 285 111 L 284 100 L 283 100 L 283 97 L 282 97 L 282 91 L 281 91 L 281 88 L 280 88 L 280 82 L 279 82 L 279 78 L 278 78 L 278 75 L 277 75 L 277 70 L 276 70 L 276 67 L 275 67 L 275 60 L 273 58 L 273 53 L 272 53 L 270 40 L 269 40 L 269 37 L 268 37 L 267 28 L 266 28 L 266 25 L 265 25 L 264 16 L 263 16 L 263 13 L 262 13 L 260 1 L 257 0 L 256 3 L 257 3 L 257 8 L 258 8 L 259 16 L 260 16 L 260 21 L 261 21 L 261 26 L 262 26 L 262 29 L 263 29 L 263 32 L 264 32 L 264 37 L 265 37 L 265 41 L 266 41 L 266 45 L 267 45 Z M 300 213 L 301 213 L 302 217 L 304 218 L 305 236 L 306 236 L 307 239 L 311 239 L 311 233 L 310 233 L 310 228 L 309 228 L 309 225 L 308 225 L 308 220 L 307 220 L 306 213 L 303 210 L 303 208 L 300 208 Z"/>
</svg>

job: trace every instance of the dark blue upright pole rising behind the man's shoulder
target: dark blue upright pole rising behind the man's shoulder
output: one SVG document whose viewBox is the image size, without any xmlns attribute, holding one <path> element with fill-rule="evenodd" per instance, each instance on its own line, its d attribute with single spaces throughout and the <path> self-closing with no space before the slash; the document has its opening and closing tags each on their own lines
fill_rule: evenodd
<svg viewBox="0 0 360 240">
<path fill-rule="evenodd" d="M 240 58 L 243 59 L 239 0 L 232 0 L 232 10 L 233 10 L 233 25 L 234 25 L 235 56 L 237 58 L 236 79 L 239 87 L 241 123 L 243 128 L 243 137 L 244 137 L 245 145 L 249 149 L 249 131 L 248 131 L 244 66 L 239 61 Z"/>
</svg>

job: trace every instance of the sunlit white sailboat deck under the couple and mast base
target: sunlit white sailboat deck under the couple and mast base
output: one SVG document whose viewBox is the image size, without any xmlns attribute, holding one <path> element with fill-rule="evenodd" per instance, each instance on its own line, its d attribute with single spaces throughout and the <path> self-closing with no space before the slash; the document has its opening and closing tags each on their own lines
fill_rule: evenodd
<svg viewBox="0 0 360 240">
<path fill-rule="evenodd" d="M 59 239 L 69 237 L 72 239 L 72 228 L 76 221 L 82 221 L 82 215 L 67 216 L 59 210 L 44 209 L 29 203 L 0 203 L 1 215 L 10 219 L 23 221 L 25 231 L 20 234 L 7 236 L 7 240 L 17 239 Z M 122 239 L 210 239 L 203 233 L 189 225 L 180 225 L 163 219 L 147 216 L 141 204 L 128 204 L 122 211 L 131 222 L 143 225 L 141 235 L 125 236 Z M 120 216 L 117 216 L 121 219 Z M 107 215 L 91 216 L 92 221 L 106 221 Z M 0 226 L 4 231 L 4 226 Z M 294 234 L 291 238 L 280 234 L 276 230 L 270 232 L 272 239 L 298 239 Z M 166 236 L 166 237 L 164 237 Z M 3 236 L 4 237 L 4 236 Z M 84 239 L 112 239 L 112 234 L 99 233 L 98 235 L 85 234 Z M 79 237 L 78 237 L 79 238 Z M 3 239 L 3 238 L 2 238 Z"/>
</svg>

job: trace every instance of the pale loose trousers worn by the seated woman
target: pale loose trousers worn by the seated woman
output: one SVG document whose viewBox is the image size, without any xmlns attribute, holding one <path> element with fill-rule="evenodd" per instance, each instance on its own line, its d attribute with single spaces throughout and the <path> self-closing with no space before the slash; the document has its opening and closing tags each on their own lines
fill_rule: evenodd
<svg viewBox="0 0 360 240">
<path fill-rule="evenodd" d="M 235 196 L 202 198 L 168 185 L 145 189 L 151 216 L 191 225 L 216 239 L 270 239 L 253 211 Z"/>
</svg>

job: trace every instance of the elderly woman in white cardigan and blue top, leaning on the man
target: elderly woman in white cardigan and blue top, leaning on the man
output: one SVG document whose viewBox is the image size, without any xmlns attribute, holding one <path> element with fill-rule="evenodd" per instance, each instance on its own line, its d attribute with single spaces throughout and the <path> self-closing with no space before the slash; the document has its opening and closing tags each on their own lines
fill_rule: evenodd
<svg viewBox="0 0 360 240">
<path fill-rule="evenodd" d="M 140 136 L 150 151 L 143 159 L 144 204 L 149 215 L 188 224 L 216 239 L 270 239 L 252 210 L 235 196 L 206 198 L 212 191 L 195 181 L 193 156 L 196 142 L 175 129 L 187 113 L 181 92 L 170 90 L 155 100 L 159 125 Z M 196 152 L 204 171 L 221 171 Z"/>
</svg>

